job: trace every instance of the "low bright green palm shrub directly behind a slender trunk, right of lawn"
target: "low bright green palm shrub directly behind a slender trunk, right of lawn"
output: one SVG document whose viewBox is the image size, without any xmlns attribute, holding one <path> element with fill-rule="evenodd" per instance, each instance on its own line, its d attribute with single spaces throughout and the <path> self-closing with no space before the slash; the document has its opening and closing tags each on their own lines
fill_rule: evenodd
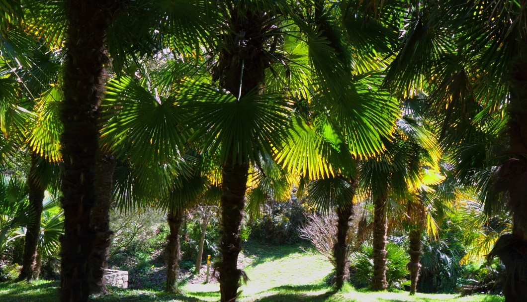
<svg viewBox="0 0 527 302">
<path fill-rule="evenodd" d="M 408 281 L 408 270 L 406 263 L 408 255 L 404 248 L 388 243 L 386 246 L 386 281 L 388 288 L 401 289 Z M 360 250 L 350 255 L 351 281 L 357 288 L 369 287 L 373 278 L 373 246 L 365 243 Z"/>
</svg>

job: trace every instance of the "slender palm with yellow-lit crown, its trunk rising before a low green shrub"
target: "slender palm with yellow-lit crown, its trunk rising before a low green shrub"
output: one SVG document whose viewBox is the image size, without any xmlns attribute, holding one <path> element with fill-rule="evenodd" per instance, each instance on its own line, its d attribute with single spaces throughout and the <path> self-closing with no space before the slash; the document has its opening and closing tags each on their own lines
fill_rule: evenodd
<svg viewBox="0 0 527 302">
<path fill-rule="evenodd" d="M 437 170 L 440 152 L 433 135 L 409 116 L 398 122 L 398 129 L 386 151 L 363 161 L 361 180 L 371 191 L 374 206 L 373 290 L 384 290 L 386 282 L 387 209 L 390 198 L 407 200 L 421 186 L 424 168 Z"/>
</svg>

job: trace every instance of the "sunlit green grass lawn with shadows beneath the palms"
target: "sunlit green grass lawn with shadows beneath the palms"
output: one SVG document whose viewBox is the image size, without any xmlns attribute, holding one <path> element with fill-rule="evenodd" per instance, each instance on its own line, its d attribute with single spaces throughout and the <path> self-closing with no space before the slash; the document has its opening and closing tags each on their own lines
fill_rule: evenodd
<svg viewBox="0 0 527 302">
<path fill-rule="evenodd" d="M 250 280 L 241 287 L 241 302 L 502 302 L 503 297 L 446 294 L 416 294 L 405 291 L 372 293 L 351 286 L 337 293 L 326 284 L 331 265 L 313 251 L 298 247 L 249 245 L 244 252 L 244 270 Z M 2 302 L 55 302 L 58 282 L 35 281 L 0 283 Z M 97 302 L 203 302 L 219 300 L 218 284 L 187 284 L 184 296 L 155 290 L 112 289 L 112 295 L 94 298 Z"/>
</svg>

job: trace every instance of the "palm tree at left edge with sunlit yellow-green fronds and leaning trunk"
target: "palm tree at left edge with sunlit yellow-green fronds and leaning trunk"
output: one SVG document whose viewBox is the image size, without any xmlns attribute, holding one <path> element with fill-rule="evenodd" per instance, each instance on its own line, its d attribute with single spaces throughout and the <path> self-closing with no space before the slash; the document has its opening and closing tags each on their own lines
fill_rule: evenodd
<svg viewBox="0 0 527 302">
<path fill-rule="evenodd" d="M 14 28 L 14 29 L 13 29 Z M 42 202 L 44 191 L 51 179 L 44 177 L 42 167 L 48 166 L 42 162 L 45 158 L 54 162 L 58 155 L 56 114 L 50 109 L 50 95 L 46 92 L 50 83 L 55 83 L 58 75 L 57 56 L 46 51 L 44 44 L 38 43 L 27 33 L 22 34 L 17 24 L 12 24 L 11 30 L 2 33 L 5 39 L 2 43 L 1 56 L 3 73 L 20 79 L 22 84 L 13 85 L 12 80 L 3 79 L 2 83 L 2 131 L 8 136 L 11 150 L 4 148 L 4 154 L 22 152 L 30 153 L 30 171 L 27 172 L 27 184 L 30 188 L 30 204 L 35 213 L 34 220 L 26 226 L 24 240 L 24 256 L 19 279 L 37 279 L 40 269 L 36 266 L 37 243 L 41 227 Z M 14 35 L 18 38 L 13 40 Z M 11 51 L 9 51 L 9 49 Z M 21 64 L 16 64 L 18 57 L 23 57 Z M 4 69 L 5 68 L 5 69 Z M 11 89 L 9 88 L 11 85 Z M 52 105 L 51 105 L 52 106 Z M 53 123 L 55 121 L 55 123 Z M 57 131 L 58 130 L 58 131 Z M 3 159 L 4 160 L 4 159 Z M 40 165 L 40 167 L 37 167 Z M 35 269 L 34 269 L 35 268 Z"/>
</svg>

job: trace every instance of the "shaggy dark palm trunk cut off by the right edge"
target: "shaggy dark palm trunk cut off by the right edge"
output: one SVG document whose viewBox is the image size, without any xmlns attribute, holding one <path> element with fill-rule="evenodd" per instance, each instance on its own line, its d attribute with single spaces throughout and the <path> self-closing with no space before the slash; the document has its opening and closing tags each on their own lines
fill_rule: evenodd
<svg viewBox="0 0 527 302">
<path fill-rule="evenodd" d="M 524 1 L 523 1 L 524 2 Z M 523 4 L 525 5 L 525 4 Z M 509 153 L 500 165 L 495 189 L 505 192 L 512 213 L 513 232 L 500 237 L 489 256 L 499 257 L 507 278 L 503 288 L 506 302 L 527 297 L 527 41 L 525 33 L 517 40 L 520 53 L 512 65 L 511 94 L 508 104 Z"/>
</svg>

